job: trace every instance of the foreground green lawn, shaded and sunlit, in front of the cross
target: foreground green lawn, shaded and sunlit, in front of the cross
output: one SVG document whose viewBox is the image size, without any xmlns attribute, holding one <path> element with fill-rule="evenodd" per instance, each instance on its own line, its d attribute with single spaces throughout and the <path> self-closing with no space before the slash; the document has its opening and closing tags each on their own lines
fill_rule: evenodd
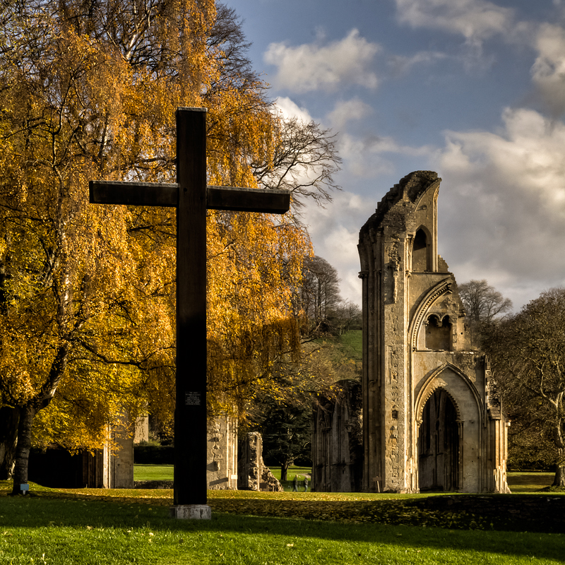
<svg viewBox="0 0 565 565">
<path fill-rule="evenodd" d="M 165 506 L 141 500 L 1 496 L 0 564 L 545 565 L 563 563 L 565 556 L 564 536 L 557 534 L 359 525 L 219 511 L 213 511 L 211 521 L 174 521 Z"/>
</svg>

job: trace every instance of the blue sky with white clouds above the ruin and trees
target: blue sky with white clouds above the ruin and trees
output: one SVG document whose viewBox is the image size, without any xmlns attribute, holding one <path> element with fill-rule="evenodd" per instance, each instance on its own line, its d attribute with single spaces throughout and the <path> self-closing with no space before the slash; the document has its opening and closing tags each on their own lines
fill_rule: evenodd
<svg viewBox="0 0 565 565">
<path fill-rule="evenodd" d="M 565 0 L 225 0 L 287 116 L 332 129 L 341 191 L 307 206 L 316 255 L 361 304 L 359 229 L 438 172 L 438 250 L 515 311 L 565 285 Z"/>
</svg>

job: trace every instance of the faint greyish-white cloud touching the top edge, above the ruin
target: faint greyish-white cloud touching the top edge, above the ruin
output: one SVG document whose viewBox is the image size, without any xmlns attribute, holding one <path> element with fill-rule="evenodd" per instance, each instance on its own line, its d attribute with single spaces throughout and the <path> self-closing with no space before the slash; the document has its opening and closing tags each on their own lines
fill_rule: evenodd
<svg viewBox="0 0 565 565">
<path fill-rule="evenodd" d="M 486 0 L 396 0 L 400 23 L 459 33 L 469 43 L 509 32 L 513 10 Z"/>
</svg>

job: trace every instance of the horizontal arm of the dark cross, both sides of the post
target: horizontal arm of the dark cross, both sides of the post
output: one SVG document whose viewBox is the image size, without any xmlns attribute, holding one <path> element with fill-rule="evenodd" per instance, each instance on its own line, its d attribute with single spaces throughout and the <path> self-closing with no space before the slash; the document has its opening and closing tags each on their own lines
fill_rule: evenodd
<svg viewBox="0 0 565 565">
<path fill-rule="evenodd" d="M 91 204 L 176 207 L 179 202 L 179 185 L 176 183 L 90 181 L 89 189 Z M 290 208 L 290 192 L 207 186 L 206 208 L 284 214 Z"/>
</svg>

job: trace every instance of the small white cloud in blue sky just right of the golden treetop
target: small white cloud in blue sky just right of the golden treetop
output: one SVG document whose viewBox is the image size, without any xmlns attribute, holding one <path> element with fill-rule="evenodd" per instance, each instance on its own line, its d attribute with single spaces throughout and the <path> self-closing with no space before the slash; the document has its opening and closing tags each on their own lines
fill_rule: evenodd
<svg viewBox="0 0 565 565">
<path fill-rule="evenodd" d="M 273 83 L 292 92 L 335 90 L 346 83 L 376 88 L 379 81 L 369 65 L 379 49 L 353 29 L 343 40 L 326 45 L 271 43 L 264 59 L 278 67 Z"/>
</svg>

